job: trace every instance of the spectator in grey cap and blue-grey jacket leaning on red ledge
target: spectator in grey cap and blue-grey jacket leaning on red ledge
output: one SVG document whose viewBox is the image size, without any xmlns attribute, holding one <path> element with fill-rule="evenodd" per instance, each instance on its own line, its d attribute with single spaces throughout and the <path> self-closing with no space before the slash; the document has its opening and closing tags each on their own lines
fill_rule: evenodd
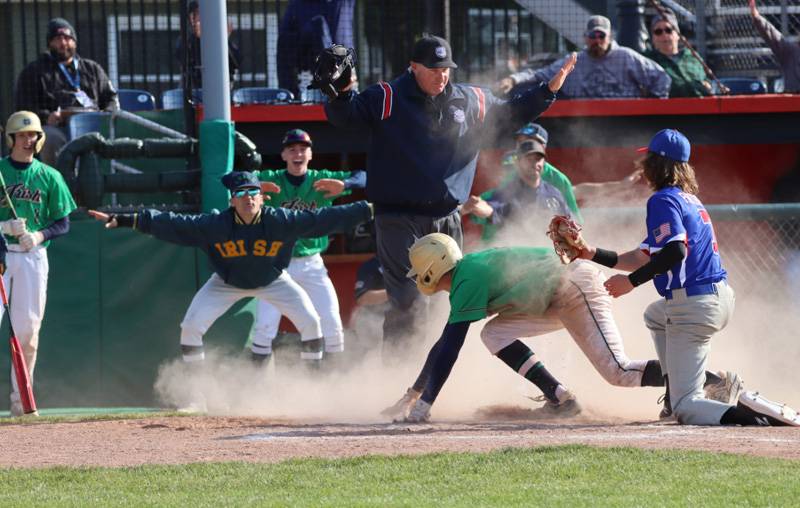
<svg viewBox="0 0 800 508">
<path fill-rule="evenodd" d="M 586 23 L 586 48 L 578 54 L 575 71 L 564 82 L 566 98 L 667 97 L 670 78 L 660 65 L 630 48 L 617 44 L 611 22 L 592 16 Z M 565 57 L 566 58 L 566 57 Z M 498 88 L 505 93 L 515 85 L 553 79 L 565 58 L 542 69 L 528 69 L 502 79 Z"/>
</svg>

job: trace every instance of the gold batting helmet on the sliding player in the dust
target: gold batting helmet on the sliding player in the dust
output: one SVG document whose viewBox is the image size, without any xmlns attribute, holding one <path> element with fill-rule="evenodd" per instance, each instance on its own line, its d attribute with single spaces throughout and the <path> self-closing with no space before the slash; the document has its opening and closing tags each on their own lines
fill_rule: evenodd
<svg viewBox="0 0 800 508">
<path fill-rule="evenodd" d="M 455 268 L 462 257 L 455 240 L 444 233 L 431 233 L 414 242 L 408 250 L 411 270 L 406 275 L 416 277 L 422 294 L 432 295 L 442 276 Z"/>
</svg>

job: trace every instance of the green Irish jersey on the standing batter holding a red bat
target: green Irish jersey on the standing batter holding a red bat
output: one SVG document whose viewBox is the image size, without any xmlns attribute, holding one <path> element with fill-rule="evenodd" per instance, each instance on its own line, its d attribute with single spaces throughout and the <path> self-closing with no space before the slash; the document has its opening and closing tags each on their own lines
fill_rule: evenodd
<svg viewBox="0 0 800 508">
<path fill-rule="evenodd" d="M 23 170 L 11 165 L 8 157 L 0 160 L 0 174 L 6 184 L 11 203 L 30 232 L 41 231 L 75 210 L 75 201 L 64 177 L 58 170 L 34 159 Z M 12 219 L 5 195 L 0 197 L 0 220 Z M 9 244 L 19 243 L 15 236 L 6 235 Z M 47 247 L 49 241 L 42 245 Z"/>
</svg>

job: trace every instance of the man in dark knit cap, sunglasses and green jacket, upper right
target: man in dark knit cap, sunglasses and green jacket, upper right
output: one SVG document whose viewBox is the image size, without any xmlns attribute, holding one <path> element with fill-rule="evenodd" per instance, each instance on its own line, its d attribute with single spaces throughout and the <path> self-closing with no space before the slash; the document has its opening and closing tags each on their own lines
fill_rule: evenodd
<svg viewBox="0 0 800 508">
<path fill-rule="evenodd" d="M 667 71 L 672 79 L 670 97 L 704 97 L 711 95 L 711 83 L 703 64 L 692 52 L 678 46 L 678 19 L 675 13 L 664 10 L 664 16 L 656 14 L 650 21 L 650 41 L 653 49 L 644 56 L 650 58 Z"/>
</svg>

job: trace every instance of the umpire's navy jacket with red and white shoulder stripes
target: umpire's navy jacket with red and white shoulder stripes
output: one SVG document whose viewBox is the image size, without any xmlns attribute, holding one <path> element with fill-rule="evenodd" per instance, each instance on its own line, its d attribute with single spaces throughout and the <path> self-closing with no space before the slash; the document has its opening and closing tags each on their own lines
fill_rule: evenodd
<svg viewBox="0 0 800 508">
<path fill-rule="evenodd" d="M 449 84 L 426 95 L 411 71 L 325 106 L 337 127 L 372 131 L 367 196 L 375 213 L 445 216 L 466 201 L 478 151 L 498 134 L 541 115 L 555 100 L 547 84 L 498 99 L 476 86 Z"/>
</svg>

